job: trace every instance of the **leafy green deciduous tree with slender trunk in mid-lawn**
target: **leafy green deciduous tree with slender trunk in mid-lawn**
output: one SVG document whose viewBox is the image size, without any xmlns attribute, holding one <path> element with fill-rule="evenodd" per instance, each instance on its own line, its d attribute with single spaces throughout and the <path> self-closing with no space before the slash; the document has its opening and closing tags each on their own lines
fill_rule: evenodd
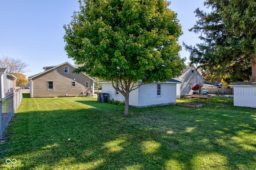
<svg viewBox="0 0 256 170">
<path fill-rule="evenodd" d="M 64 26 L 65 50 L 75 72 L 112 82 L 125 98 L 142 84 L 179 75 L 184 59 L 177 14 L 164 0 L 80 0 L 80 11 Z M 138 80 L 142 80 L 138 84 Z"/>
</svg>

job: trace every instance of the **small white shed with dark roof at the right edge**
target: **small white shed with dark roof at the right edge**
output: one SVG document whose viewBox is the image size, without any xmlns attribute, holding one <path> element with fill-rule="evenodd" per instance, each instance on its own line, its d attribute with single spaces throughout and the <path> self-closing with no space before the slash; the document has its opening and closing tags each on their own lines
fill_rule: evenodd
<svg viewBox="0 0 256 170">
<path fill-rule="evenodd" d="M 234 88 L 234 106 L 256 108 L 256 82 L 235 82 L 229 86 Z"/>
</svg>

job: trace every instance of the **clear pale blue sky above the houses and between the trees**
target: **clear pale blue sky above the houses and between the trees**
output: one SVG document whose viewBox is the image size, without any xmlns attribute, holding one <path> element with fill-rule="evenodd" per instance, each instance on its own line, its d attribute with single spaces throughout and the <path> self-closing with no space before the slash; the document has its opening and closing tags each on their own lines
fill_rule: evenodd
<svg viewBox="0 0 256 170">
<path fill-rule="evenodd" d="M 171 0 L 169 8 L 178 14 L 184 34 L 179 43 L 196 44 L 199 34 L 189 32 L 197 18 L 194 10 L 203 6 L 204 0 Z M 78 0 L 1 0 L 0 1 L 0 56 L 20 58 L 28 64 L 26 76 L 38 74 L 44 66 L 64 62 L 74 64 L 64 50 L 63 25 L 71 21 L 79 10 Z M 188 59 L 189 52 L 180 52 Z"/>
</svg>

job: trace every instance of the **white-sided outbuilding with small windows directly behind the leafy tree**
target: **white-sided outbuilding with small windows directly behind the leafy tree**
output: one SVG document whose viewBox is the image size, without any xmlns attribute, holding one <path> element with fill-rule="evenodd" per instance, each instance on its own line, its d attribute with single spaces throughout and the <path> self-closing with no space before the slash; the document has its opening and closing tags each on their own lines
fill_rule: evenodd
<svg viewBox="0 0 256 170">
<path fill-rule="evenodd" d="M 111 82 L 101 81 L 98 83 L 102 83 L 102 93 L 110 94 L 110 100 L 124 101 L 124 96 L 116 92 Z M 137 84 L 141 83 L 141 81 L 137 82 Z M 180 83 L 177 80 L 170 79 L 167 82 L 143 84 L 130 92 L 129 105 L 143 108 L 176 104 L 176 84 Z"/>
</svg>

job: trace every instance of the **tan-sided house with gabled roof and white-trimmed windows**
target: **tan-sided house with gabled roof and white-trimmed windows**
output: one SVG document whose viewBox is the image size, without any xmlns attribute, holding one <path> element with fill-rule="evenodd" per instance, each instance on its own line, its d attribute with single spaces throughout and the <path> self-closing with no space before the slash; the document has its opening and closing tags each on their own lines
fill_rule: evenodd
<svg viewBox="0 0 256 170">
<path fill-rule="evenodd" d="M 44 67 L 44 72 L 30 76 L 30 97 L 93 96 L 95 80 L 84 73 L 73 73 L 68 62 Z"/>
</svg>

